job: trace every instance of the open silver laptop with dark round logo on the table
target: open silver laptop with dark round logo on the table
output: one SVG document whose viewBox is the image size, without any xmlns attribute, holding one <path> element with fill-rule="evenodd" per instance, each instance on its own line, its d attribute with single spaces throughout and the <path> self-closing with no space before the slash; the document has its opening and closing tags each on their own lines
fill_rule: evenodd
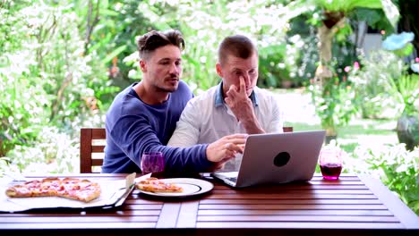
<svg viewBox="0 0 419 236">
<path fill-rule="evenodd" d="M 211 176 L 233 187 L 310 181 L 325 135 L 323 130 L 249 135 L 238 172 Z"/>
</svg>

